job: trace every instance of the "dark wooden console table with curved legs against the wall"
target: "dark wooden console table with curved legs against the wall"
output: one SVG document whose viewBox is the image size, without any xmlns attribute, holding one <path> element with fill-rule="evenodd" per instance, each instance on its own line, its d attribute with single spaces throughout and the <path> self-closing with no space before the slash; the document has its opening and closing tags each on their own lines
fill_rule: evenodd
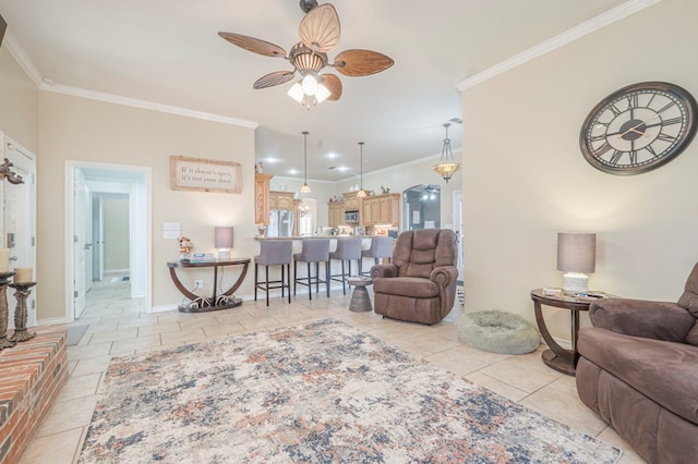
<svg viewBox="0 0 698 464">
<path fill-rule="evenodd" d="M 189 300 L 191 303 L 188 305 L 179 305 L 178 309 L 182 313 L 205 313 L 209 310 L 219 310 L 240 306 L 242 300 L 236 298 L 232 294 L 240 288 L 244 277 L 248 273 L 248 266 L 250 265 L 250 258 L 242 259 L 229 259 L 226 261 L 206 261 L 206 262 L 186 262 L 186 261 L 170 261 L 167 267 L 170 270 L 170 278 L 177 286 L 177 290 Z M 242 271 L 238 276 L 238 280 L 225 292 L 219 292 L 218 289 L 218 268 L 226 266 L 242 266 Z M 214 292 L 210 297 L 200 296 L 192 293 L 189 289 L 182 285 L 179 277 L 177 276 L 177 269 L 196 269 L 196 268 L 213 268 L 214 269 Z"/>
</svg>

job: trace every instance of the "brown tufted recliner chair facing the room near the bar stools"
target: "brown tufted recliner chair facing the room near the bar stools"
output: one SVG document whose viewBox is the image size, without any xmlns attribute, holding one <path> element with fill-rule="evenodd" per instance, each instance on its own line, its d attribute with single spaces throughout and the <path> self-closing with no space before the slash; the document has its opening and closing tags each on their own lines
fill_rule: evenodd
<svg viewBox="0 0 698 464">
<path fill-rule="evenodd" d="M 456 242 L 449 229 L 402 232 L 393 262 L 371 268 L 375 313 L 429 325 L 446 317 L 456 298 Z"/>
</svg>

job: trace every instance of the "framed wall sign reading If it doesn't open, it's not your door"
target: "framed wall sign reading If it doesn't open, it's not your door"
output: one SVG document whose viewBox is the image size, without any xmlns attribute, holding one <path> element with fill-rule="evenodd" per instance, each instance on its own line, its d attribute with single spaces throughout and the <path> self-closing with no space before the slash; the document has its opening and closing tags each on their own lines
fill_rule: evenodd
<svg viewBox="0 0 698 464">
<path fill-rule="evenodd" d="M 239 194 L 241 179 L 239 162 L 170 157 L 170 188 L 173 191 Z"/>
</svg>

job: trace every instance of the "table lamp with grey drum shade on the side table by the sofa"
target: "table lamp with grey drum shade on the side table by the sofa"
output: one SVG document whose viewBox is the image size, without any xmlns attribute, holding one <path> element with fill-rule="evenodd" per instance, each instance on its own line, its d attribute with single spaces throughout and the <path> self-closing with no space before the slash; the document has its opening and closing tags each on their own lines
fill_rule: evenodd
<svg viewBox="0 0 698 464">
<path fill-rule="evenodd" d="M 565 271 L 566 293 L 587 293 L 589 277 L 597 262 L 595 233 L 557 233 L 557 270 Z"/>
</svg>

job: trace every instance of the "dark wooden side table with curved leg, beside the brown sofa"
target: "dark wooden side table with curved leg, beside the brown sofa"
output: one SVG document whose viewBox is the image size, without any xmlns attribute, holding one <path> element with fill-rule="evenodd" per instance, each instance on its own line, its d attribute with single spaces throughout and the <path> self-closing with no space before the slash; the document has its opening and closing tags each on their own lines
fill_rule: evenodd
<svg viewBox="0 0 698 464">
<path fill-rule="evenodd" d="M 543 294 L 543 289 L 531 290 L 531 300 L 533 300 L 533 309 L 535 310 L 535 322 L 538 322 L 538 329 L 541 331 L 541 335 L 550 350 L 545 350 L 542 354 L 543 363 L 549 367 L 567 374 L 568 376 L 575 375 L 575 367 L 579 359 L 579 353 L 577 352 L 577 337 L 579 333 L 579 312 L 589 310 L 591 303 L 598 298 L 590 296 L 550 296 Z M 545 319 L 543 319 L 543 312 L 541 306 L 553 306 L 557 308 L 564 308 L 570 310 L 571 319 L 571 350 L 562 347 L 553 335 L 550 334 L 547 326 L 545 326 Z"/>
</svg>

